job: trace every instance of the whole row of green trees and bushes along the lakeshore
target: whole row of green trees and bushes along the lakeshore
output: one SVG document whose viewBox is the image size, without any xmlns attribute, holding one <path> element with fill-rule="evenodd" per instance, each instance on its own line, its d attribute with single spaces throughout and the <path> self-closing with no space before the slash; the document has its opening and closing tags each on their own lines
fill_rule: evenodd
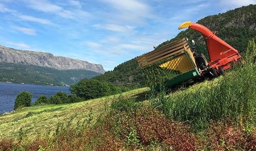
<svg viewBox="0 0 256 151">
<path fill-rule="evenodd" d="M 127 87 L 119 87 L 109 82 L 101 82 L 96 79 L 82 79 L 80 82 L 73 84 L 70 87 L 71 94 L 67 94 L 66 92 L 57 92 L 49 98 L 45 94 L 42 94 L 35 100 L 34 104 L 32 104 L 32 93 L 22 91 L 17 94 L 14 110 L 31 105 L 37 106 L 44 104 L 75 103 L 113 94 L 119 94 L 128 90 L 129 89 Z"/>
</svg>

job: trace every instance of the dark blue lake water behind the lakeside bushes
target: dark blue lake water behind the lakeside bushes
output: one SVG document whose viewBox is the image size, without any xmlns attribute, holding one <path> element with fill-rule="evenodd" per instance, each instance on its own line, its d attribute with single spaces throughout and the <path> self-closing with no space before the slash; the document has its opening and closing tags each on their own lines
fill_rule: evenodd
<svg viewBox="0 0 256 151">
<path fill-rule="evenodd" d="M 0 83 L 0 113 L 12 111 L 15 98 L 20 91 L 29 91 L 33 94 L 32 102 L 41 94 L 50 97 L 58 91 L 70 94 L 69 87 L 52 87 L 32 84 Z"/>
</svg>

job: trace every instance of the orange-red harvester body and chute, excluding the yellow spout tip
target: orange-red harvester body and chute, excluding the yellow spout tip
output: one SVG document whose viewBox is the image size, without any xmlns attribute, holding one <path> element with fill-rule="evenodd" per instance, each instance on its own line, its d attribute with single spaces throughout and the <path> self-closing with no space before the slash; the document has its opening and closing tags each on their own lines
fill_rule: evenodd
<svg viewBox="0 0 256 151">
<path fill-rule="evenodd" d="M 219 72 L 219 67 L 222 66 L 226 70 L 231 67 L 231 62 L 238 62 L 238 59 L 241 58 L 238 50 L 221 40 L 215 35 L 215 32 L 205 26 L 191 22 L 189 28 L 200 32 L 206 38 L 211 69 L 215 68 Z"/>
</svg>

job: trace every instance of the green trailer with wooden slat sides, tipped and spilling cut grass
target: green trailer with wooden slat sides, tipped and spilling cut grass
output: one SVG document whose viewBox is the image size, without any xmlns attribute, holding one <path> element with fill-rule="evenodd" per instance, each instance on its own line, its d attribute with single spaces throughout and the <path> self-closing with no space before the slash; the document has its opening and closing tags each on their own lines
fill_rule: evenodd
<svg viewBox="0 0 256 151">
<path fill-rule="evenodd" d="M 137 57 L 149 87 L 159 90 L 200 76 L 196 62 L 184 38 Z"/>
</svg>

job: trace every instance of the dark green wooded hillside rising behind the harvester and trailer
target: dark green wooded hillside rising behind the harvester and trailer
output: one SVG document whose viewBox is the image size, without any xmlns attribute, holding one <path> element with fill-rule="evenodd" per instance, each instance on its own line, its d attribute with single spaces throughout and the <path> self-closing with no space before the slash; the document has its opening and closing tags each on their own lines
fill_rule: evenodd
<svg viewBox="0 0 256 151">
<path fill-rule="evenodd" d="M 256 38 L 256 5 L 240 7 L 222 14 L 207 16 L 199 20 L 198 23 L 209 27 L 212 31 L 217 31 L 217 36 L 243 54 L 248 40 Z M 204 37 L 201 33 L 189 29 L 180 32 L 176 37 L 163 42 L 158 47 L 184 37 L 195 40 L 195 52 L 203 52 L 206 57 L 208 56 Z M 137 65 L 136 59 L 119 64 L 113 71 L 94 78 L 129 87 L 145 86 L 145 79 Z"/>
</svg>

